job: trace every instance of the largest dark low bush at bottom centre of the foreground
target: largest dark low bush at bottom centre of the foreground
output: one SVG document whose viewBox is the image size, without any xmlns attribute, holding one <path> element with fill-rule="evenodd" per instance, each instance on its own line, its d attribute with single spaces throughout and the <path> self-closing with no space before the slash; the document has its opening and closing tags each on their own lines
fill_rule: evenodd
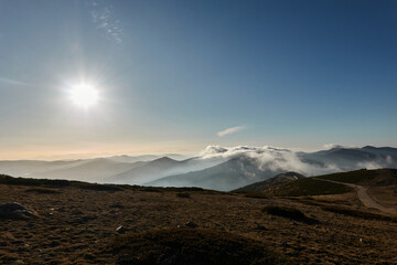
<svg viewBox="0 0 397 265">
<path fill-rule="evenodd" d="M 109 248 L 117 254 L 120 265 L 291 264 L 261 242 L 202 229 L 163 229 L 120 235 Z"/>
</svg>

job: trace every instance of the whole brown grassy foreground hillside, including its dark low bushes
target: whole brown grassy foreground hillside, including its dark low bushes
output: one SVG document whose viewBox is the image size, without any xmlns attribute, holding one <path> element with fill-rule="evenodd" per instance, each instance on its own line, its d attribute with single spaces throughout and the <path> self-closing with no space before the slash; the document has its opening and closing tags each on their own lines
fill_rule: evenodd
<svg viewBox="0 0 397 265">
<path fill-rule="evenodd" d="M 9 215 L 11 202 L 30 214 Z M 397 262 L 397 221 L 354 197 L 251 199 L 2 176 L 0 219 L 1 264 Z"/>
</svg>

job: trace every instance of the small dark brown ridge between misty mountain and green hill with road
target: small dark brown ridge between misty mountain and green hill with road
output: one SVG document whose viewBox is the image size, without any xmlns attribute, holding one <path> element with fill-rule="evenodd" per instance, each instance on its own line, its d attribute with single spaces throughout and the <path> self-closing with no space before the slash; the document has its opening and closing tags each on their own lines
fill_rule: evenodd
<svg viewBox="0 0 397 265">
<path fill-rule="evenodd" d="M 293 180 L 302 179 L 304 178 L 303 174 L 297 173 L 297 172 L 286 172 L 277 174 L 268 180 L 259 181 L 239 189 L 234 190 L 235 192 L 262 192 L 271 187 L 290 182 Z"/>
</svg>

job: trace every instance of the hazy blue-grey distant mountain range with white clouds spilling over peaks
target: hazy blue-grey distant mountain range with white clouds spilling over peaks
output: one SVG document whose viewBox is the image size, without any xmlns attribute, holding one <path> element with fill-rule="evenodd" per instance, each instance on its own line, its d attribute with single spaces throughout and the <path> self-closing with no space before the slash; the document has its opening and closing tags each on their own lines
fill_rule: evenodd
<svg viewBox="0 0 397 265">
<path fill-rule="evenodd" d="M 0 161 L 0 173 L 228 191 L 288 171 L 310 177 L 362 168 L 397 168 L 397 148 L 372 146 L 336 147 L 316 152 L 293 152 L 267 147 L 216 147 L 210 153 L 189 159 L 179 155 L 170 156 L 172 158 L 148 155 L 61 161 Z"/>
</svg>

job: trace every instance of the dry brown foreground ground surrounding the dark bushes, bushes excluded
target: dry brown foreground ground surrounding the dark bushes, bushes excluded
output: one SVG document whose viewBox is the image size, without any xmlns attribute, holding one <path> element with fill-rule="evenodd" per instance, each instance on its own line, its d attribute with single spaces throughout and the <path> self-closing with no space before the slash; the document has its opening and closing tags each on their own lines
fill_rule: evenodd
<svg viewBox="0 0 397 265">
<path fill-rule="evenodd" d="M 246 198 L 213 191 L 95 191 L 0 184 L 0 204 L 19 202 L 39 218 L 0 220 L 1 264 L 115 264 L 109 252 L 116 229 L 126 234 L 184 226 L 219 230 L 261 241 L 297 264 L 397 264 L 397 223 L 322 210 L 321 205 L 361 206 L 355 194 L 302 200 Z M 314 203 L 311 203 L 314 202 Z M 266 205 L 288 205 L 319 224 L 264 213 Z"/>
</svg>

